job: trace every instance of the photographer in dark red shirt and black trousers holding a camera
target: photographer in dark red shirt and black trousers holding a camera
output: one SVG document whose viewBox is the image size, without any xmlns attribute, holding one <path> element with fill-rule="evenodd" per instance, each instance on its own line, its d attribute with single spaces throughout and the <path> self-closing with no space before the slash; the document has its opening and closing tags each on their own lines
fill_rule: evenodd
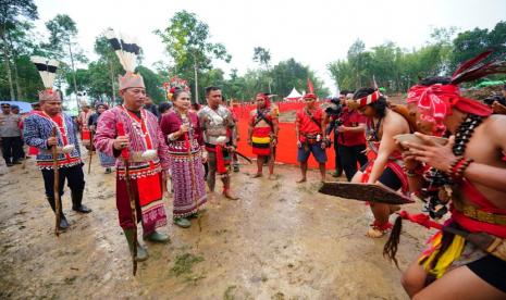
<svg viewBox="0 0 506 300">
<path fill-rule="evenodd" d="M 340 96 L 340 105 L 342 108 L 340 114 L 333 114 L 331 116 L 331 123 L 334 126 L 330 126 L 331 130 L 328 130 L 328 136 L 334 130 L 334 150 L 336 161 L 336 174 L 340 172 L 340 166 L 344 170 L 348 182 L 351 180 L 353 176 L 357 172 L 357 162 L 360 166 L 366 165 L 367 157 L 366 150 L 366 121 L 367 117 L 359 114 L 356 110 L 349 110 L 346 107 L 346 96 L 343 90 Z M 353 97 L 353 93 L 348 93 Z"/>
</svg>

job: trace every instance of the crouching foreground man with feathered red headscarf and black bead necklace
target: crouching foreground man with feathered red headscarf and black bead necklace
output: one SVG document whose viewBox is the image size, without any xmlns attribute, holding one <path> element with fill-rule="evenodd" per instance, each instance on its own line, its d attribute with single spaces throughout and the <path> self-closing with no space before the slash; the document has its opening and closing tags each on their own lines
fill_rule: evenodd
<svg viewBox="0 0 506 300">
<path fill-rule="evenodd" d="M 431 166 L 445 182 L 436 192 L 439 201 L 451 201 L 452 213 L 443 225 L 423 214 L 400 214 L 441 229 L 403 276 L 412 299 L 506 299 L 506 116 L 492 115 L 489 107 L 461 97 L 458 87 L 488 74 L 505 73 L 504 61 L 482 63 L 489 54 L 464 63 L 452 78 L 423 79 L 408 93 L 408 101 L 417 103 L 420 122 L 432 123 L 436 135 L 445 130 L 452 135 L 445 146 L 421 134 L 423 145 L 403 143 L 409 149 L 405 161 L 410 189 L 420 195 L 424 182 L 433 184 L 419 172 L 421 163 Z M 469 233 L 493 242 L 482 247 Z"/>
</svg>

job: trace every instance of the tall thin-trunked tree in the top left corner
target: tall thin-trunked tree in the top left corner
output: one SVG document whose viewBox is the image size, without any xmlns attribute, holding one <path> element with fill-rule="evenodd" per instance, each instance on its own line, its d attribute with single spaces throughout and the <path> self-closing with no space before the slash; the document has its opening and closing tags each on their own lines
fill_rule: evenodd
<svg viewBox="0 0 506 300">
<path fill-rule="evenodd" d="M 0 39 L 3 54 L 3 64 L 9 82 L 11 99 L 15 99 L 12 72 L 10 66 L 11 49 L 8 41 L 9 32 L 14 30 L 21 18 L 36 20 L 37 5 L 33 0 L 2 0 L 0 1 Z"/>
</svg>

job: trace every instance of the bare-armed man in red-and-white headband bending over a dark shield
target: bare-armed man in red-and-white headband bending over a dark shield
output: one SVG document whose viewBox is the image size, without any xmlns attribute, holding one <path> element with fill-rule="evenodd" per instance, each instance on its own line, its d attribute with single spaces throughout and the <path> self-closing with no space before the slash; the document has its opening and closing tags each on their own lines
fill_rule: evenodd
<svg viewBox="0 0 506 300">
<path fill-rule="evenodd" d="M 358 171 L 353 183 L 380 184 L 394 190 L 408 191 L 408 180 L 403 171 L 403 158 L 394 136 L 409 134 L 406 118 L 386 105 L 386 99 L 374 88 L 360 88 L 347 102 L 350 109 L 368 117 L 366 123 L 366 140 L 369 162 Z M 391 227 L 388 216 L 397 207 L 370 202 L 374 222 L 367 236 L 382 237 Z"/>
</svg>

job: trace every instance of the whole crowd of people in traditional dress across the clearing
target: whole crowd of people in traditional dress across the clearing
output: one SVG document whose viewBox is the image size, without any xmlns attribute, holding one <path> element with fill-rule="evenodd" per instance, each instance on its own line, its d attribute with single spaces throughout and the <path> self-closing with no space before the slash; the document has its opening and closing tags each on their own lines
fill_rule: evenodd
<svg viewBox="0 0 506 300">
<path fill-rule="evenodd" d="M 106 172 L 116 170 L 120 226 L 135 260 L 144 261 L 148 251 L 137 241 L 138 222 L 144 239 L 169 240 L 166 234 L 158 230 L 166 224 L 165 190 L 172 190 L 173 223 L 182 228 L 192 226 L 192 218 L 199 217 L 209 192 L 214 195 L 217 176 L 222 182 L 223 197 L 238 199 L 231 183 L 231 171 L 237 162 L 237 118 L 224 104 L 222 89 L 217 86 L 206 88 L 205 107 L 193 105 L 188 88 L 181 86 L 173 90 L 170 104 L 157 108 L 148 100 L 143 77 L 134 72 L 133 65 L 123 66 L 126 74 L 119 83 L 123 103 L 113 108 L 98 103 L 95 112 L 83 105 L 77 117 L 82 142 L 75 123 L 62 113 L 61 97 L 52 84 L 39 93 L 40 110 L 34 110 L 24 121 L 12 112 L 14 108 L 2 104 L 0 135 L 8 166 L 25 158 L 22 136 L 26 145 L 37 149 L 36 162 L 46 197 L 60 215 L 61 229 L 66 229 L 69 222 L 61 204 L 57 212 L 55 195 L 63 195 L 65 180 L 72 209 L 91 212 L 83 204 L 85 180 L 79 143 L 89 151 L 96 149 Z M 428 202 L 429 215 L 417 217 L 398 212 L 398 205 L 369 202 L 374 220 L 367 236 L 379 238 L 392 232 L 385 253 L 394 261 L 400 221 L 394 226 L 390 222 L 392 214 L 398 212 L 399 217 L 440 229 L 431 248 L 403 276 L 403 286 L 410 297 L 506 297 L 504 105 L 497 102 L 485 105 L 465 98 L 458 86 L 468 77 L 493 73 L 499 71 L 493 72 L 490 65 L 474 61 L 452 77 L 421 79 L 408 90 L 405 104 L 388 103 L 377 87 L 361 87 L 354 92 L 343 90 L 328 110 L 320 108 L 318 97 L 309 92 L 304 96 L 304 109 L 296 113 L 301 175 L 297 183 L 307 180 L 311 154 L 319 163 L 320 179 L 325 183 L 326 149 L 332 147 L 333 139 L 334 177 L 344 173 L 348 182 L 382 185 Z M 506 85 L 503 93 L 506 96 Z M 258 92 L 256 103 L 257 108 L 249 113 L 246 137 L 257 155 L 252 177 L 263 176 L 267 165 L 269 179 L 275 179 L 276 151 L 284 151 L 277 149 L 277 139 L 280 135 L 294 133 L 280 130 L 279 111 L 271 103 L 271 95 Z M 418 142 L 397 138 L 414 133 Z M 444 142 L 434 141 L 434 136 Z M 57 185 L 55 167 L 60 175 Z M 59 190 L 54 190 L 57 186 Z M 432 205 L 434 201 L 439 207 Z M 444 224 L 430 221 L 441 220 L 444 215 L 441 209 L 446 207 L 449 217 Z M 486 235 L 493 245 L 483 248 L 469 239 L 474 233 Z"/>
</svg>

